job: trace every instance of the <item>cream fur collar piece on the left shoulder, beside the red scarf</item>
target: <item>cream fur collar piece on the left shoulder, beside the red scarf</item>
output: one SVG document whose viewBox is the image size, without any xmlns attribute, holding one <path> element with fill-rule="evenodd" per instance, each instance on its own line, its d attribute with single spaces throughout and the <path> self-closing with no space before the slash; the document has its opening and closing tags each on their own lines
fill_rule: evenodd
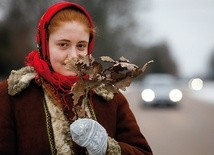
<svg viewBox="0 0 214 155">
<path fill-rule="evenodd" d="M 8 81 L 8 94 L 16 95 L 29 86 L 29 83 L 36 76 L 36 71 L 31 66 L 19 70 L 12 70 Z"/>
</svg>

